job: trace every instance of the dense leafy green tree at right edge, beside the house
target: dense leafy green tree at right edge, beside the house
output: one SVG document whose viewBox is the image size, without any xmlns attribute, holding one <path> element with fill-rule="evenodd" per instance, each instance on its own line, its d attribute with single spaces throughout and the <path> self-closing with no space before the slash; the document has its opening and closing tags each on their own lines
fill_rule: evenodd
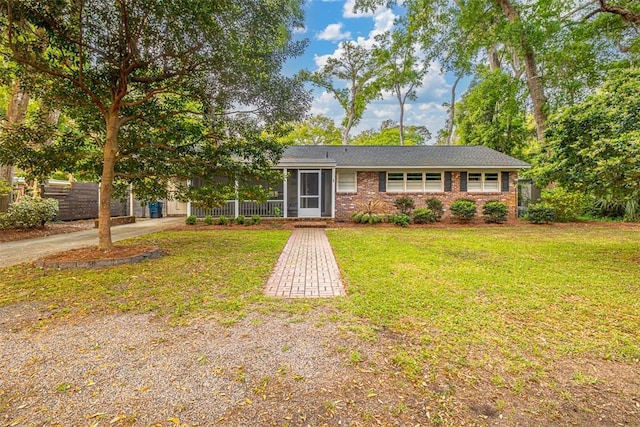
<svg viewBox="0 0 640 427">
<path fill-rule="evenodd" d="M 640 69 L 612 71 L 596 93 L 556 113 L 538 178 L 640 215 Z"/>
</svg>

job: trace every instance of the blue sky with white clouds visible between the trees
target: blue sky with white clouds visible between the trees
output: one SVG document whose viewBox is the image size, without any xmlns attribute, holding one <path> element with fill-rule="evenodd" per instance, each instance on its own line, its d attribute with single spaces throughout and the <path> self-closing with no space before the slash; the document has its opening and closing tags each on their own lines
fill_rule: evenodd
<svg viewBox="0 0 640 427">
<path fill-rule="evenodd" d="M 373 13 L 354 13 L 355 0 L 308 0 L 305 3 L 305 27 L 298 29 L 298 37 L 307 38 L 309 46 L 305 54 L 287 64 L 287 73 L 300 69 L 315 71 L 330 55 L 335 55 L 340 42 L 351 40 L 371 46 L 376 34 L 392 29 L 399 10 L 379 8 Z M 445 124 L 447 112 L 442 106 L 450 99 L 452 77 L 440 73 L 438 64 L 431 64 L 429 73 L 418 89 L 418 100 L 408 101 L 405 124 L 426 126 L 432 135 Z M 310 88 L 312 88 L 310 86 Z M 458 89 L 460 92 L 461 88 Z M 458 93 L 459 98 L 459 93 Z M 337 125 L 344 118 L 344 111 L 333 96 L 321 89 L 314 89 L 312 114 L 322 114 L 334 119 Z M 399 107 L 389 94 L 375 100 L 365 112 L 361 123 L 352 135 L 365 129 L 378 129 L 387 119 L 398 120 Z"/>
</svg>

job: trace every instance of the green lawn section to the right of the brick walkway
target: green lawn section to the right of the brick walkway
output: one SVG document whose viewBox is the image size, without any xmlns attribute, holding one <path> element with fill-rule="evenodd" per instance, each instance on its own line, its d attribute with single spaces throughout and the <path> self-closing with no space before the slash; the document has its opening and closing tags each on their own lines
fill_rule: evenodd
<svg viewBox="0 0 640 427">
<path fill-rule="evenodd" d="M 640 359 L 640 228 L 489 227 L 328 232 L 343 307 L 415 345 L 413 366 L 562 356 Z M 475 358 L 474 361 L 468 360 Z"/>
</svg>

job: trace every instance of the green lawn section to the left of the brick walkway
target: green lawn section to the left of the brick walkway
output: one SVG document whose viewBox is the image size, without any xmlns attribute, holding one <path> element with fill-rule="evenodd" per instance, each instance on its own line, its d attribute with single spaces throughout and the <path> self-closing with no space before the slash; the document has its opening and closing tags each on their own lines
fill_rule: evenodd
<svg viewBox="0 0 640 427">
<path fill-rule="evenodd" d="M 165 232 L 126 242 L 168 253 L 151 262 L 102 270 L 0 269 L 0 305 L 34 301 L 61 314 L 152 311 L 173 321 L 207 314 L 232 320 L 266 299 L 263 285 L 289 233 Z"/>
</svg>

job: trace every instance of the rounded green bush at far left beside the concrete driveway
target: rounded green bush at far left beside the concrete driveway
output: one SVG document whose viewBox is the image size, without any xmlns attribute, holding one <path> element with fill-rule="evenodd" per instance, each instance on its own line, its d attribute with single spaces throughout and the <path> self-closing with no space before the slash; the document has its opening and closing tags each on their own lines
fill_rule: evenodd
<svg viewBox="0 0 640 427">
<path fill-rule="evenodd" d="M 0 228 L 42 227 L 58 215 L 58 201 L 23 196 L 0 217 Z"/>
</svg>

